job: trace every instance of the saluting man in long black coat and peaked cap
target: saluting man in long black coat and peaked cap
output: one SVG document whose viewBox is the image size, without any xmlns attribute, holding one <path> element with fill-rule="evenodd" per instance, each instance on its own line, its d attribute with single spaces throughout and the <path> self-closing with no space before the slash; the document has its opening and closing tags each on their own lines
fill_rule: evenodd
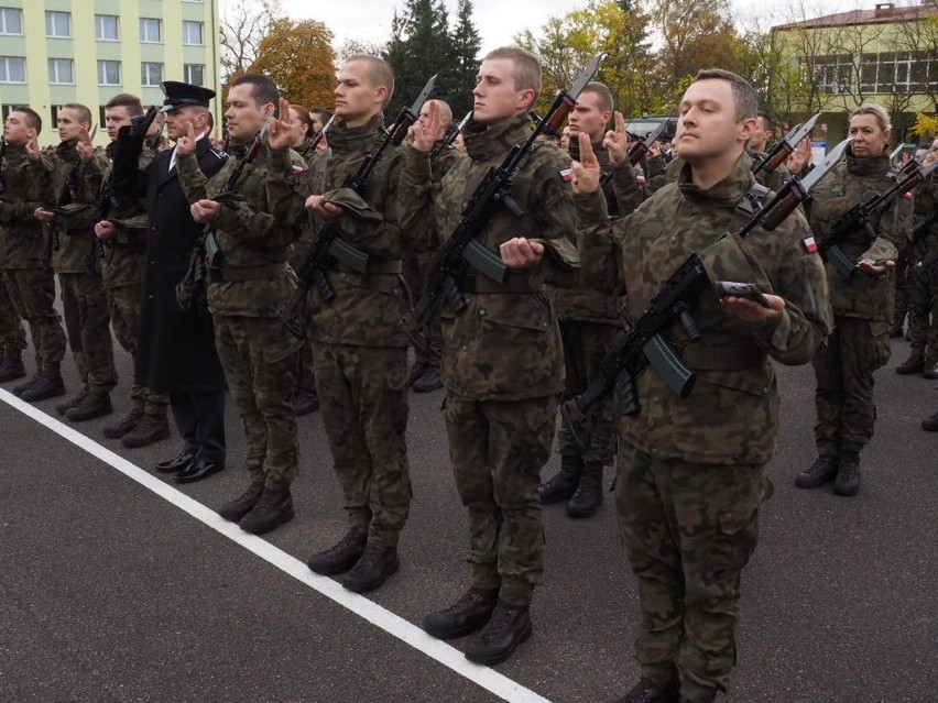
<svg viewBox="0 0 938 703">
<path fill-rule="evenodd" d="M 167 136 L 175 141 L 192 124 L 198 135 L 198 166 L 211 177 L 228 158 L 208 139 L 208 102 L 215 91 L 168 80 L 163 91 Z M 127 138 L 121 134 L 118 140 Z M 139 141 L 142 147 L 142 136 Z M 173 459 L 156 464 L 156 470 L 175 473 L 177 482 L 189 483 L 225 468 L 225 392 L 204 292 L 188 310 L 176 303 L 176 284 L 185 276 L 203 228 L 193 220 L 179 187 L 175 155 L 175 149 L 160 152 L 144 172 L 137 169 L 139 151 L 132 158 L 116 158 L 113 186 L 124 198 L 146 195 L 150 233 L 135 381 L 168 393 L 185 447 Z"/>
</svg>

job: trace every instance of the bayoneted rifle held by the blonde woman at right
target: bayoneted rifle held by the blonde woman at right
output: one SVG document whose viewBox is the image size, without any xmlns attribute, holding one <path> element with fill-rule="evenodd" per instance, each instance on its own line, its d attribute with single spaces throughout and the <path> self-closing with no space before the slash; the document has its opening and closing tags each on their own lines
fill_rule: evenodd
<svg viewBox="0 0 938 703">
<path fill-rule="evenodd" d="M 919 183 L 925 180 L 932 171 L 938 168 L 938 161 L 930 163 L 927 166 L 921 166 L 915 161 L 910 161 L 908 173 L 901 172 L 902 178 L 898 178 L 892 187 L 885 193 L 876 194 L 873 197 L 858 202 L 847 212 L 841 215 L 837 221 L 824 234 L 818 237 L 809 237 L 801 242 L 807 252 L 820 252 L 825 261 L 833 264 L 837 272 L 847 281 L 853 277 L 857 272 L 857 262 L 848 259 L 843 250 L 840 249 L 841 240 L 849 233 L 862 230 L 869 241 L 876 239 L 876 230 L 873 228 L 872 217 L 880 208 L 888 205 L 897 196 L 908 193 Z"/>
</svg>

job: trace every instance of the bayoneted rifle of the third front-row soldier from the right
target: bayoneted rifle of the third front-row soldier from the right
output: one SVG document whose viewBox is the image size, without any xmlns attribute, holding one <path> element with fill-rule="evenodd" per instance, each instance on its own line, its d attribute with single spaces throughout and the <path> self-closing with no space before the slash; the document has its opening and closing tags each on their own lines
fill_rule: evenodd
<svg viewBox="0 0 938 703">
<path fill-rule="evenodd" d="M 342 184 L 343 188 L 351 188 L 355 193 L 364 197 L 371 174 L 374 172 L 384 152 L 388 151 L 389 146 L 400 146 L 404 141 L 407 130 L 417 121 L 421 108 L 433 91 L 435 84 L 436 76 L 432 76 L 414 103 L 410 108 L 405 106 L 401 109 L 401 113 L 394 121 L 393 128 L 390 131 L 385 131 L 384 139 L 381 140 L 377 149 L 366 155 L 358 171 Z M 336 290 L 332 288 L 332 284 L 329 283 L 327 274 L 329 262 L 334 259 L 358 273 L 368 272 L 368 255 L 342 240 L 341 230 L 337 222 L 327 223 L 319 231 L 319 234 L 313 242 L 313 246 L 299 264 L 299 268 L 296 272 L 299 279 L 296 290 L 280 310 L 280 318 L 286 325 L 286 328 L 299 339 L 306 336 L 303 308 L 309 288 L 315 284 L 319 289 L 319 295 L 326 303 L 331 303 L 336 299 Z"/>
</svg>

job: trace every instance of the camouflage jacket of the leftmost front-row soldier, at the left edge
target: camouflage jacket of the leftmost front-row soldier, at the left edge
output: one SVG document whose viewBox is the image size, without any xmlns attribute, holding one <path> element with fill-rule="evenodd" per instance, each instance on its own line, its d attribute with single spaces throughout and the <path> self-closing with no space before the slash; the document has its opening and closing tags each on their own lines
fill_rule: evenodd
<svg viewBox="0 0 938 703">
<path fill-rule="evenodd" d="M 25 145 L 7 144 L 0 165 L 6 185 L 0 194 L 0 268 L 37 268 L 41 265 L 45 238 L 33 212 L 43 205 L 42 184 L 50 180 L 53 168 L 52 160 L 45 154 L 32 162 Z"/>
</svg>

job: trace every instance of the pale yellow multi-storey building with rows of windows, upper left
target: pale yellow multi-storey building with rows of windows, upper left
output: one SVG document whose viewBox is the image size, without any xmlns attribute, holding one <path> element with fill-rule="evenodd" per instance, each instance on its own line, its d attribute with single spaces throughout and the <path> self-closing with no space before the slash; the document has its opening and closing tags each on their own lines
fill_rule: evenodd
<svg viewBox="0 0 938 703">
<path fill-rule="evenodd" d="M 163 80 L 219 92 L 218 0 L 0 0 L 0 109 L 28 105 L 52 144 L 58 106 L 80 102 L 98 122 L 130 92 L 162 105 Z M 218 123 L 218 105 L 212 105 Z"/>
</svg>

